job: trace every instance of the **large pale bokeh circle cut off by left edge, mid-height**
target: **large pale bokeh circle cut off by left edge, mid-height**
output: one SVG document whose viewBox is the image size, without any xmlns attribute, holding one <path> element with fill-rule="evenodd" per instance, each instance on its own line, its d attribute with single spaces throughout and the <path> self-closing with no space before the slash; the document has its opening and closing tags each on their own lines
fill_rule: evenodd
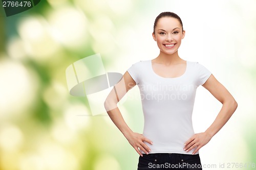
<svg viewBox="0 0 256 170">
<path fill-rule="evenodd" d="M 0 118 L 22 114 L 33 104 L 38 82 L 24 65 L 10 60 L 0 62 Z M 0 121 L 1 121 L 0 119 Z"/>
</svg>

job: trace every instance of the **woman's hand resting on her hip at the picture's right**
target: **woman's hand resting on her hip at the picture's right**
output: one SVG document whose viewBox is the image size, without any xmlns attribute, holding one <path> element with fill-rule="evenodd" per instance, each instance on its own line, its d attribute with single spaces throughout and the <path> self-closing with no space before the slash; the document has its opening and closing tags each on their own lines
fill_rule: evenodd
<svg viewBox="0 0 256 170">
<path fill-rule="evenodd" d="M 192 149 L 194 149 L 195 147 L 197 147 L 197 149 L 192 153 L 193 155 L 196 154 L 200 148 L 202 148 L 205 144 L 207 144 L 211 139 L 211 136 L 206 133 L 197 133 L 195 135 L 193 135 L 192 137 L 190 137 L 185 143 L 185 147 L 184 147 L 184 151 L 189 152 Z"/>
</svg>

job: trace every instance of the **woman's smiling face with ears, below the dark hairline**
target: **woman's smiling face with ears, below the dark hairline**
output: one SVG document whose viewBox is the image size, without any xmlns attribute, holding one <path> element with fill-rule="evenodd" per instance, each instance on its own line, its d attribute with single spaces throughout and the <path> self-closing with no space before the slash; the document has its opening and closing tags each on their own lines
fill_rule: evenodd
<svg viewBox="0 0 256 170">
<path fill-rule="evenodd" d="M 173 17 L 162 17 L 158 20 L 153 38 L 161 52 L 172 55 L 178 51 L 181 40 L 185 36 L 178 19 Z"/>
</svg>

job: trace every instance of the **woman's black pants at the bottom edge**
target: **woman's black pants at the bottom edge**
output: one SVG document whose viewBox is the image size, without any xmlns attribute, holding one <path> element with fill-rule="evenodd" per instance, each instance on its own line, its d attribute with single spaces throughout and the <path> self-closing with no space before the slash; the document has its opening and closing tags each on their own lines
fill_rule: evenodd
<svg viewBox="0 0 256 170">
<path fill-rule="evenodd" d="M 139 157 L 138 170 L 141 169 L 187 169 L 187 170 L 202 170 L 199 154 L 143 154 Z"/>
</svg>

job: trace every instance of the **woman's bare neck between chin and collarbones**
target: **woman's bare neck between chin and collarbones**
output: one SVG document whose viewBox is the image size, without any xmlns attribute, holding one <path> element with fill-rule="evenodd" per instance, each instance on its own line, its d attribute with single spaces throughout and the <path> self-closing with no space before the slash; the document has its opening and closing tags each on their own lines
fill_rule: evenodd
<svg viewBox="0 0 256 170">
<path fill-rule="evenodd" d="M 179 57 L 178 51 L 175 52 L 174 54 L 171 54 L 171 55 L 165 54 L 165 53 L 160 51 L 160 54 L 155 59 L 155 61 L 157 63 L 164 63 L 166 65 L 169 65 L 169 64 L 179 63 L 179 62 L 181 62 L 183 60 Z"/>
</svg>

